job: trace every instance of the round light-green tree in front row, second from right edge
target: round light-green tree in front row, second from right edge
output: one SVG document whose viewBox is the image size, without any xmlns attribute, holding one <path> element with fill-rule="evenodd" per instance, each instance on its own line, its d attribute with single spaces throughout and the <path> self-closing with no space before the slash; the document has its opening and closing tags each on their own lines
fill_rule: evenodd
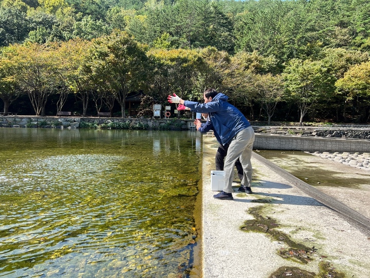
<svg viewBox="0 0 370 278">
<path fill-rule="evenodd" d="M 334 78 L 327 74 L 321 61 L 292 59 L 283 73 L 286 99 L 295 103 L 300 111 L 300 125 L 303 117 L 319 100 L 332 91 Z"/>
</svg>

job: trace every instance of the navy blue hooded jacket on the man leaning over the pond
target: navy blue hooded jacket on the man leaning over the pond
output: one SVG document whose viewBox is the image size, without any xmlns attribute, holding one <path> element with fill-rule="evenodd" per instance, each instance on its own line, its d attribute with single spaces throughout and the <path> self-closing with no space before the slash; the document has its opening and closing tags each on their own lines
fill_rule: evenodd
<svg viewBox="0 0 370 278">
<path fill-rule="evenodd" d="M 184 101 L 184 106 L 189 107 L 192 111 L 208 113 L 214 131 L 218 134 L 219 142 L 222 145 L 229 143 L 239 131 L 250 127 L 247 118 L 235 106 L 227 102 L 228 99 L 228 96 L 218 93 L 208 103 Z"/>
</svg>

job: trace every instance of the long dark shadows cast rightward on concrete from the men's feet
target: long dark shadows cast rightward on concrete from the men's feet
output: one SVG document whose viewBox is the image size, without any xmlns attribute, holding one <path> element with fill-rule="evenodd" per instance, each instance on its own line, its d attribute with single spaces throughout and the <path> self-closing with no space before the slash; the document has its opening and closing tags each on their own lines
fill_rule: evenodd
<svg viewBox="0 0 370 278">
<path fill-rule="evenodd" d="M 265 193 L 265 192 L 258 192 L 257 188 L 275 188 L 275 189 L 289 189 L 292 188 L 291 185 L 278 183 L 278 182 L 270 182 L 264 180 L 258 180 L 252 184 L 252 191 L 253 194 L 245 194 L 245 198 L 238 199 L 234 198 L 236 202 L 248 202 L 248 203 L 270 203 L 270 204 L 292 204 L 292 205 L 315 205 L 315 206 L 322 206 L 323 204 L 315 200 L 311 197 L 305 196 L 297 196 L 297 195 L 288 195 L 283 193 Z M 238 194 L 244 194 L 235 192 Z M 254 196 L 254 198 L 250 199 L 249 196 Z M 263 196 L 264 198 L 261 198 Z"/>
</svg>

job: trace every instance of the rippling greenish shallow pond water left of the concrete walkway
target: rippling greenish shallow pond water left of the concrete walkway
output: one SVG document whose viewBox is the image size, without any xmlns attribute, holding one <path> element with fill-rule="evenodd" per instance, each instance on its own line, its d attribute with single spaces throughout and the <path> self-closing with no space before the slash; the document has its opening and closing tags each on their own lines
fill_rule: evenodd
<svg viewBox="0 0 370 278">
<path fill-rule="evenodd" d="M 0 142 L 0 276 L 196 268 L 199 133 L 0 128 Z"/>
</svg>

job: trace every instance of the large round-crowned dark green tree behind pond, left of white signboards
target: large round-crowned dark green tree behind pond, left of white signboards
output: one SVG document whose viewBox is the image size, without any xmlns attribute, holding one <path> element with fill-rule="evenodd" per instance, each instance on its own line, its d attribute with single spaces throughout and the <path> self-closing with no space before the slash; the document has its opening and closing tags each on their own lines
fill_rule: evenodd
<svg viewBox="0 0 370 278">
<path fill-rule="evenodd" d="M 125 100 L 130 92 L 144 89 L 145 49 L 126 32 L 115 30 L 96 39 L 90 47 L 91 77 L 100 90 L 114 95 L 125 117 Z"/>
</svg>

